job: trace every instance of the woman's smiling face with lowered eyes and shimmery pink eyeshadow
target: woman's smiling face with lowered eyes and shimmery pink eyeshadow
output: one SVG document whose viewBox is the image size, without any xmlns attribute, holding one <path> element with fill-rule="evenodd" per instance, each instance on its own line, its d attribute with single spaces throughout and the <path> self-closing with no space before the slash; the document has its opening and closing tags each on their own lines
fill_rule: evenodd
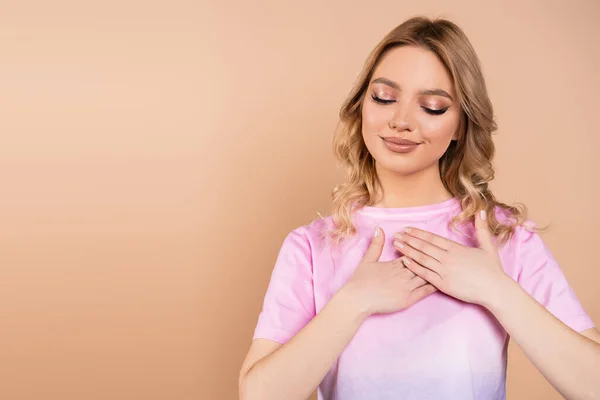
<svg viewBox="0 0 600 400">
<path fill-rule="evenodd" d="M 437 56 L 414 46 L 388 51 L 362 107 L 362 135 L 378 171 L 410 175 L 438 168 L 458 138 L 459 122 L 460 104 Z"/>
</svg>

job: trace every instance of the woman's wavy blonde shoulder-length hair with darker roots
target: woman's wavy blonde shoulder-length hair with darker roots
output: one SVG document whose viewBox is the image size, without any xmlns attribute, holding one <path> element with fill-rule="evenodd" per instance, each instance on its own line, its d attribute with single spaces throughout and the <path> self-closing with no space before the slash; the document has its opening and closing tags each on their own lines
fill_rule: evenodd
<svg viewBox="0 0 600 400">
<path fill-rule="evenodd" d="M 527 209 L 524 205 L 501 203 L 488 187 L 494 178 L 492 132 L 497 126 L 475 50 L 453 22 L 419 16 L 394 28 L 372 50 L 340 109 L 343 128 L 336 130 L 333 146 L 348 177 L 333 189 L 333 228 L 327 236 L 340 243 L 354 235 L 352 212 L 357 207 L 372 205 L 380 189 L 375 160 L 362 137 L 362 104 L 376 66 L 386 52 L 398 46 L 418 46 L 433 52 L 448 70 L 457 92 L 461 106 L 459 136 L 439 160 L 442 182 L 462 207 L 461 213 L 451 220 L 452 227 L 473 221 L 476 212 L 486 210 L 490 231 L 498 245 L 510 240 L 519 225 L 538 230 L 525 224 Z M 496 206 L 508 212 L 509 218 L 504 223 L 496 218 Z"/>
</svg>

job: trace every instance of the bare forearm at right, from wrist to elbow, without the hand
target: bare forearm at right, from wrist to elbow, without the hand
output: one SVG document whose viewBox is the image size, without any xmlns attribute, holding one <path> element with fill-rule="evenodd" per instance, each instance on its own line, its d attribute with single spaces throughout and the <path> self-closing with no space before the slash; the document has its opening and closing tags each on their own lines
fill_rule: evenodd
<svg viewBox="0 0 600 400">
<path fill-rule="evenodd" d="M 600 398 L 600 344 L 580 335 L 510 278 L 485 305 L 544 377 L 567 399 Z"/>
</svg>

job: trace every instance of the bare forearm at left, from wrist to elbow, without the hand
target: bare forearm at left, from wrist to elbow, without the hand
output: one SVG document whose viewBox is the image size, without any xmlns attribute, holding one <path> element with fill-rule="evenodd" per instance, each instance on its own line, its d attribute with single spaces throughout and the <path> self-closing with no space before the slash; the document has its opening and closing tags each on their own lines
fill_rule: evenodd
<svg viewBox="0 0 600 400">
<path fill-rule="evenodd" d="M 244 379 L 244 400 L 305 400 L 367 317 L 340 290 L 295 337 L 256 363 Z"/>
</svg>

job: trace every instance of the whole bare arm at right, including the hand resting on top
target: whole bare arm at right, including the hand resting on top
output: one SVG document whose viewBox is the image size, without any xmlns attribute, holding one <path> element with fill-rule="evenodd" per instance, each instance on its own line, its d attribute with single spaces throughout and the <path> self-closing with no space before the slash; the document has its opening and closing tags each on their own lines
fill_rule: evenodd
<svg viewBox="0 0 600 400">
<path fill-rule="evenodd" d="M 415 261 L 407 266 L 439 290 L 489 309 L 564 397 L 599 400 L 597 331 L 574 331 L 506 275 L 485 221 L 484 213 L 475 220 L 478 248 L 416 228 L 396 235 L 396 246 Z"/>
</svg>

